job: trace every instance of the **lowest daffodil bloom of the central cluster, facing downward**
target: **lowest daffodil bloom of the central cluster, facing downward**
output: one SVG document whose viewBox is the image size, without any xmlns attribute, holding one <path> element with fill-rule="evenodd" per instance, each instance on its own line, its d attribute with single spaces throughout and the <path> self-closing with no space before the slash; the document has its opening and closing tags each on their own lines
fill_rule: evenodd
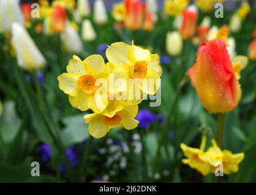
<svg viewBox="0 0 256 195">
<path fill-rule="evenodd" d="M 137 113 L 138 105 L 126 105 L 114 100 L 109 102 L 104 112 L 85 115 L 85 122 L 89 123 L 88 129 L 92 137 L 102 138 L 116 127 L 124 127 L 127 130 L 136 128 Z"/>
</svg>

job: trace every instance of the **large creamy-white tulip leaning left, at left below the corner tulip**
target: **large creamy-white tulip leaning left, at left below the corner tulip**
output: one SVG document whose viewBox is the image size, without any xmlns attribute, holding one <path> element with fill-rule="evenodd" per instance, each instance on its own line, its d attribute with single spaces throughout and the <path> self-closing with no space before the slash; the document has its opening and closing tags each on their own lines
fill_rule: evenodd
<svg viewBox="0 0 256 195">
<path fill-rule="evenodd" d="M 37 71 L 45 66 L 45 58 L 19 23 L 12 24 L 12 44 L 17 54 L 18 66 L 28 71 Z"/>
</svg>

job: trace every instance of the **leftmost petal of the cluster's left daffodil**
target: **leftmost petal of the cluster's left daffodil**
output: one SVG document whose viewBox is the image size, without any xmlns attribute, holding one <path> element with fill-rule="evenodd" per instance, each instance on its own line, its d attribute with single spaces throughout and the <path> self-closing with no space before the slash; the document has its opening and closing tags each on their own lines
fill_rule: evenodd
<svg viewBox="0 0 256 195">
<path fill-rule="evenodd" d="M 77 96 L 77 80 L 81 74 L 62 73 L 58 76 L 59 88 L 70 96 Z"/>
</svg>

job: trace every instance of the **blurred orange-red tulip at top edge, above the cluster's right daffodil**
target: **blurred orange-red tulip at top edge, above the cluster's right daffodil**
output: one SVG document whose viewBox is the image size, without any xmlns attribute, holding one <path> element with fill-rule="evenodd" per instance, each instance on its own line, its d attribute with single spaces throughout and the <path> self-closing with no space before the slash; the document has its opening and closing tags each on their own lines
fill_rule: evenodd
<svg viewBox="0 0 256 195">
<path fill-rule="evenodd" d="M 140 0 L 126 0 L 126 27 L 131 30 L 138 30 L 143 19 L 145 6 Z"/>
</svg>

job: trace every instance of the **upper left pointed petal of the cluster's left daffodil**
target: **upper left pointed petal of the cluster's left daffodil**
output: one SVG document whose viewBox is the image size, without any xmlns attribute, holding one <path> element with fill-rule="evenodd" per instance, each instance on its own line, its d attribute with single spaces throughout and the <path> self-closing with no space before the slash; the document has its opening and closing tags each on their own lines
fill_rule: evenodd
<svg viewBox="0 0 256 195">
<path fill-rule="evenodd" d="M 75 74 L 81 73 L 86 74 L 85 63 L 81 61 L 77 55 L 73 55 L 73 58 L 69 60 L 69 64 L 67 65 L 67 73 Z"/>
</svg>

